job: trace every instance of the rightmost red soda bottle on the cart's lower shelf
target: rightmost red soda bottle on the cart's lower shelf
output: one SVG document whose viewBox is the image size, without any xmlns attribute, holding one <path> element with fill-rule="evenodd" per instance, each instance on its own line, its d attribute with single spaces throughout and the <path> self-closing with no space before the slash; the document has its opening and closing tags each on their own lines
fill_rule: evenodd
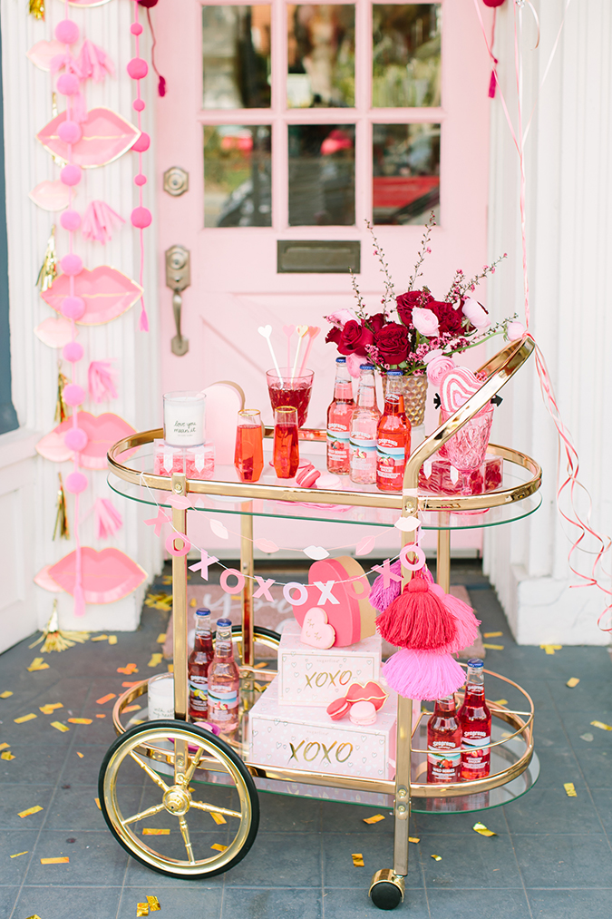
<svg viewBox="0 0 612 919">
<path fill-rule="evenodd" d="M 459 709 L 461 727 L 461 778 L 470 781 L 486 778 L 491 771 L 491 748 L 482 749 L 482 744 L 491 743 L 491 712 L 484 698 L 484 664 L 480 658 L 468 661 L 468 680 L 465 698 Z"/>
</svg>

